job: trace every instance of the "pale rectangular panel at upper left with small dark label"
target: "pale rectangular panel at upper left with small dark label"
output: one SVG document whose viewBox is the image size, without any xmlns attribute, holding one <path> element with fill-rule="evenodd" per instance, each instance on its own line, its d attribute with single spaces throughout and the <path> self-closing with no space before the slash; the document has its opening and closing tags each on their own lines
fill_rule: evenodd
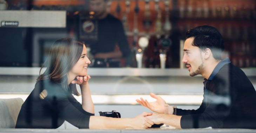
<svg viewBox="0 0 256 133">
<path fill-rule="evenodd" d="M 65 28 L 66 11 L 1 10 L 1 27 Z"/>
</svg>

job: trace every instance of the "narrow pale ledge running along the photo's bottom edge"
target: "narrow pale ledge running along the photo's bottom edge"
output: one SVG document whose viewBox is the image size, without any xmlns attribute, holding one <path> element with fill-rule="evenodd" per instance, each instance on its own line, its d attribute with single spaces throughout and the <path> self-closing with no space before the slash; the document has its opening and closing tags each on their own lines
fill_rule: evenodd
<svg viewBox="0 0 256 133">
<path fill-rule="evenodd" d="M 14 128 L 0 128 L 0 133 L 256 133 L 256 130 L 251 129 L 161 129 L 148 128 L 144 130 L 122 129 L 122 130 L 91 130 L 91 129 L 14 129 Z"/>
</svg>

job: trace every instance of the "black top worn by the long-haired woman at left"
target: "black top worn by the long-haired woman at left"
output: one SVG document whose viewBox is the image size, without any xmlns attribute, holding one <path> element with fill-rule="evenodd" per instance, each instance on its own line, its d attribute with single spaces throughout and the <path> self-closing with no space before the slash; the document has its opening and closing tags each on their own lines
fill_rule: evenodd
<svg viewBox="0 0 256 133">
<path fill-rule="evenodd" d="M 61 84 L 41 80 L 21 106 L 16 128 L 58 128 L 64 121 L 89 128 L 90 116 Z"/>
</svg>

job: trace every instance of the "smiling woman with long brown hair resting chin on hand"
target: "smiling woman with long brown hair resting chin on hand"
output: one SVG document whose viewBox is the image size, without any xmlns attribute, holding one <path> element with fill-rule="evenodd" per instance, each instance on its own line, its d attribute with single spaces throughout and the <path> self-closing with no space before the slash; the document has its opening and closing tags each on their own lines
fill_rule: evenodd
<svg viewBox="0 0 256 133">
<path fill-rule="evenodd" d="M 152 113 L 142 113 L 135 118 L 94 116 L 87 75 L 90 63 L 84 43 L 71 38 L 54 42 L 47 68 L 23 103 L 16 128 L 58 128 L 65 120 L 78 128 L 90 129 L 151 127 L 154 123 L 146 116 Z M 82 104 L 72 95 L 80 95 L 76 84 L 80 85 Z"/>
</svg>

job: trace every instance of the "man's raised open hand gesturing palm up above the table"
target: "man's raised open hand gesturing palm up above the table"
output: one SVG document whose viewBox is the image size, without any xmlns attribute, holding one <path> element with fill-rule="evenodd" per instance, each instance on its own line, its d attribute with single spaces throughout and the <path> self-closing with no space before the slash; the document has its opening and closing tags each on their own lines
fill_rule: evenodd
<svg viewBox="0 0 256 133">
<path fill-rule="evenodd" d="M 164 113 L 164 106 L 168 105 L 166 102 L 161 98 L 160 96 L 157 96 L 154 93 L 150 93 L 150 96 L 155 98 L 155 102 L 148 102 L 147 100 L 144 100 L 143 98 L 136 99 L 136 102 L 141 104 L 142 106 L 147 107 L 151 111 L 157 112 L 157 113 Z"/>
</svg>

